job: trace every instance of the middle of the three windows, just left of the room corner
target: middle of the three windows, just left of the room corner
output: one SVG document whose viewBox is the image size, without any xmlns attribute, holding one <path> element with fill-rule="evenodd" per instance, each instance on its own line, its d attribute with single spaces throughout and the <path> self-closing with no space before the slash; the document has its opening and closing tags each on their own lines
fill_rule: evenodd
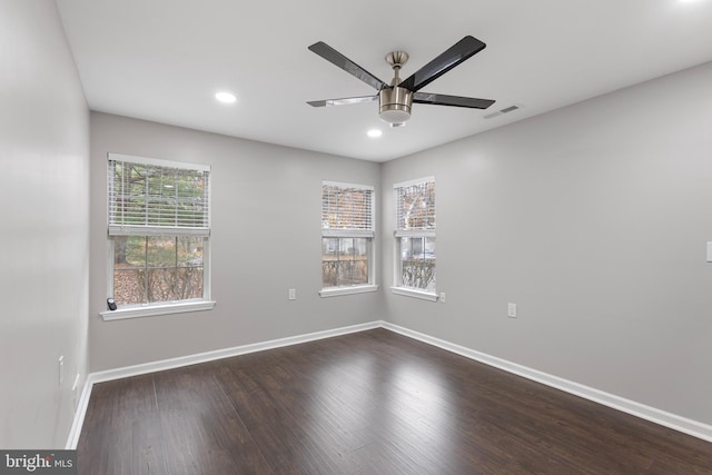
<svg viewBox="0 0 712 475">
<path fill-rule="evenodd" d="M 374 187 L 322 184 L 322 297 L 376 290 Z"/>
</svg>

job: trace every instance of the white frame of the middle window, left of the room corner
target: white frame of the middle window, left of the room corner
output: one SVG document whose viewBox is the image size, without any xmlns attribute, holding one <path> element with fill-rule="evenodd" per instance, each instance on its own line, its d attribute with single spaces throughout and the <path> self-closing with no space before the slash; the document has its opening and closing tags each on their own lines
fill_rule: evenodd
<svg viewBox="0 0 712 475">
<path fill-rule="evenodd" d="M 320 297 L 336 297 L 343 295 L 353 295 L 353 294 L 363 294 L 368 291 L 378 290 L 378 285 L 376 284 L 376 222 L 375 222 L 375 210 L 376 210 L 376 190 L 374 186 L 370 185 L 358 185 L 358 184 L 347 184 L 342 181 L 322 181 L 322 190 L 324 190 L 325 186 L 335 186 L 342 188 L 354 188 L 354 189 L 363 189 L 370 191 L 370 229 L 329 229 L 322 224 L 322 239 L 324 238 L 367 238 L 368 239 L 368 284 L 357 284 L 349 286 L 334 286 L 334 287 L 323 287 L 319 290 Z M 324 215 L 324 207 L 322 207 L 322 215 Z M 324 270 L 322 270 L 324 271 Z M 322 276 L 322 284 L 324 284 L 324 276 Z"/>
</svg>

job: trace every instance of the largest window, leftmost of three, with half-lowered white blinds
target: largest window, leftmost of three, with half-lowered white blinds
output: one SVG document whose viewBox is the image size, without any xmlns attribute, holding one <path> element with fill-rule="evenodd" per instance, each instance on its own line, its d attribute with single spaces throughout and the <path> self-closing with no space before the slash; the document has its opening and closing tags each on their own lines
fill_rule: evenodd
<svg viewBox="0 0 712 475">
<path fill-rule="evenodd" d="M 109 154 L 105 319 L 212 308 L 210 167 Z"/>
</svg>

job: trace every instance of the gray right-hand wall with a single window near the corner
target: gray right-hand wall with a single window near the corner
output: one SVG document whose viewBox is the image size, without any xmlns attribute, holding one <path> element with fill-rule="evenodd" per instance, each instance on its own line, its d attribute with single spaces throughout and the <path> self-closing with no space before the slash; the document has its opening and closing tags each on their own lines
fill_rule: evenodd
<svg viewBox="0 0 712 475">
<path fill-rule="evenodd" d="M 384 243 L 392 185 L 436 177 L 447 295 L 387 294 L 388 319 L 712 424 L 710 85 L 708 63 L 385 164 Z"/>
</svg>

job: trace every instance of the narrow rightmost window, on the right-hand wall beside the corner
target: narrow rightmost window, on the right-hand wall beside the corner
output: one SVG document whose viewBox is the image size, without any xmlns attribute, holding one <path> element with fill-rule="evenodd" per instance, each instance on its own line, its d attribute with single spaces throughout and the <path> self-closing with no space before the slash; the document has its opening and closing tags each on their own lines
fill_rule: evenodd
<svg viewBox="0 0 712 475">
<path fill-rule="evenodd" d="M 394 185 L 396 294 L 431 300 L 435 293 L 435 178 Z"/>
</svg>

